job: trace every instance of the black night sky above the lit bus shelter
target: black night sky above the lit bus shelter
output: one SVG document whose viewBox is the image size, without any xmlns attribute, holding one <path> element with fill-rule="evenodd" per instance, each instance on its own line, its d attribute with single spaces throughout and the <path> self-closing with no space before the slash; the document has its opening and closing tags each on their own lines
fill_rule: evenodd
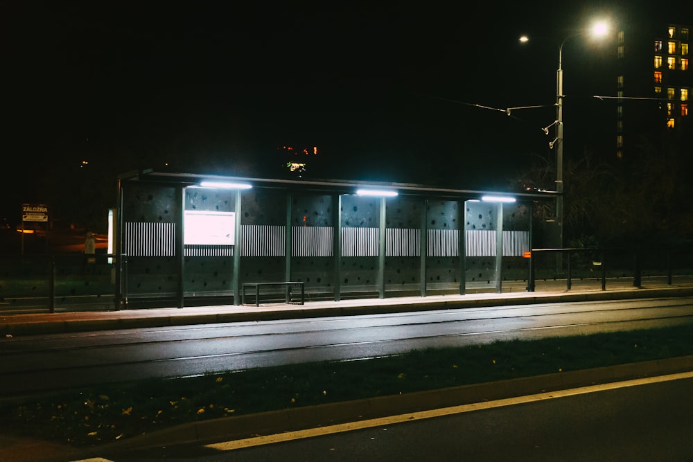
<svg viewBox="0 0 693 462">
<path fill-rule="evenodd" d="M 638 1 L 4 3 L 6 215 L 99 184 L 114 196 L 136 168 L 279 177 L 284 146 L 317 146 L 308 179 L 505 188 L 550 156 L 561 39 L 595 15 L 653 15 Z M 566 93 L 588 96 L 606 51 L 572 45 Z"/>
</svg>

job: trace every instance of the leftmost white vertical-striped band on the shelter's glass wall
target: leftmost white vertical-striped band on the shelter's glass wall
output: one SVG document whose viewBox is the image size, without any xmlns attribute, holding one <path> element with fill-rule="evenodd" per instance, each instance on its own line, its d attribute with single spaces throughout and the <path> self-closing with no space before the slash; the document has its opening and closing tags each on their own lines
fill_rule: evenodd
<svg viewBox="0 0 693 462">
<path fill-rule="evenodd" d="M 175 256 L 175 223 L 126 222 L 123 252 L 132 257 Z"/>
</svg>

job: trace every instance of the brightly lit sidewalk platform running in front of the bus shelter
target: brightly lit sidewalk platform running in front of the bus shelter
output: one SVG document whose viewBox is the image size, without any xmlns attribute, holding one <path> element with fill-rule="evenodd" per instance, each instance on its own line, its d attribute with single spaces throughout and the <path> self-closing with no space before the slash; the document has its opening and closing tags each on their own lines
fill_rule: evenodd
<svg viewBox="0 0 693 462">
<path fill-rule="evenodd" d="M 468 293 L 397 297 L 389 299 L 351 299 L 342 301 L 308 301 L 305 305 L 272 303 L 267 305 L 215 305 L 189 308 L 149 308 L 142 310 L 75 311 L 33 314 L 2 314 L 0 335 L 42 335 L 92 330 L 155 328 L 190 324 L 267 321 L 310 317 L 383 314 L 453 308 L 483 308 L 499 305 L 568 303 L 617 299 L 645 299 L 661 296 L 693 296 L 693 278 L 678 278 L 667 285 L 665 278 L 632 287 L 631 281 L 610 281 L 606 290 L 595 281 L 573 283 L 565 290 L 565 281 L 538 281 L 536 292 L 507 287 L 509 292 Z"/>
</svg>

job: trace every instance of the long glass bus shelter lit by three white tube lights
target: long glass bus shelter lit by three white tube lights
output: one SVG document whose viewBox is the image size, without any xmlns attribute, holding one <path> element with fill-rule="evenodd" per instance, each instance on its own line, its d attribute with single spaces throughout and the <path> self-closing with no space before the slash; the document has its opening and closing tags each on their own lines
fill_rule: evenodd
<svg viewBox="0 0 693 462">
<path fill-rule="evenodd" d="M 130 172 L 116 305 L 240 305 L 244 285 L 286 282 L 306 300 L 500 292 L 528 274 L 532 202 L 547 196 Z"/>
</svg>

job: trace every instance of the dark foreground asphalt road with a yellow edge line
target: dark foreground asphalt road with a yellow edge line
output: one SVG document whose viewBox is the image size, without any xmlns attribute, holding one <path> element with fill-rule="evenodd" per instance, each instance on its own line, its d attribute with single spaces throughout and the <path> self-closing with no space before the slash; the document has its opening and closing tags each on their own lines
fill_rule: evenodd
<svg viewBox="0 0 693 462">
<path fill-rule="evenodd" d="M 104 455 L 115 462 L 693 461 L 693 373 L 672 377 L 311 429 L 279 435 L 279 443 L 252 438 Z"/>
</svg>

